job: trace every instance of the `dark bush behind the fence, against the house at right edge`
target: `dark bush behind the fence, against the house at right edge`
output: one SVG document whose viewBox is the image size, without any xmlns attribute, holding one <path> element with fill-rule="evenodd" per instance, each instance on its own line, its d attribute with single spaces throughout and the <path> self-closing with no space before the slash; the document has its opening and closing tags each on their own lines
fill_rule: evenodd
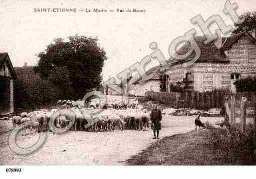
<svg viewBox="0 0 256 179">
<path fill-rule="evenodd" d="M 256 77 L 247 77 L 240 79 L 234 83 L 237 92 L 256 92 Z"/>
</svg>

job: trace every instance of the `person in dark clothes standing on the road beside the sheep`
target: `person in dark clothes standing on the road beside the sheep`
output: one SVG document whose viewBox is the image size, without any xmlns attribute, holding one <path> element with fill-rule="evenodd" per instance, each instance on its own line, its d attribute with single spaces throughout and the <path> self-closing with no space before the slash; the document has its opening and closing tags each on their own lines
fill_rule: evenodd
<svg viewBox="0 0 256 179">
<path fill-rule="evenodd" d="M 154 134 L 153 139 L 159 139 L 159 130 L 161 130 L 162 113 L 157 108 L 156 104 L 152 105 L 150 119 L 151 119 L 151 129 L 153 130 L 153 134 Z"/>
</svg>

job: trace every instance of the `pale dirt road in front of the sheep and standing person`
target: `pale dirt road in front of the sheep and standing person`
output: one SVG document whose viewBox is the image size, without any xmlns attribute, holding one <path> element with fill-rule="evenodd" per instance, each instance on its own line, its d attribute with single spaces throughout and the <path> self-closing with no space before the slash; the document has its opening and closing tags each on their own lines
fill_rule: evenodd
<svg viewBox="0 0 256 179">
<path fill-rule="evenodd" d="M 189 116 L 163 116 L 160 138 L 194 130 L 194 118 Z M 202 117 L 214 122 L 222 118 Z M 11 128 L 10 121 L 0 121 Z M 2 124 L 5 123 L 5 124 Z M 47 132 L 45 144 L 28 156 L 16 155 L 7 145 L 8 132 L 0 133 L 0 165 L 122 165 L 156 140 L 152 130 L 147 132 L 124 130 L 93 133 L 69 131 L 56 135 Z M 38 139 L 38 134 L 18 136 L 20 147 L 28 147 Z"/>
</svg>

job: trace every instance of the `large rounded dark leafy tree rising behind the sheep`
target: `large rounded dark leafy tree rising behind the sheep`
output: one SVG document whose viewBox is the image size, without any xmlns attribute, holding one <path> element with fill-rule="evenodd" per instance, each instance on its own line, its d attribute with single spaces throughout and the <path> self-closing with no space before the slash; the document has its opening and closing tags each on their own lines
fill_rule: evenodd
<svg viewBox="0 0 256 179">
<path fill-rule="evenodd" d="M 100 85 L 106 52 L 97 38 L 74 35 L 67 39 L 56 38 L 45 52 L 37 54 L 39 61 L 34 70 L 56 86 L 72 88 L 72 94 L 81 98 L 87 89 Z"/>
</svg>

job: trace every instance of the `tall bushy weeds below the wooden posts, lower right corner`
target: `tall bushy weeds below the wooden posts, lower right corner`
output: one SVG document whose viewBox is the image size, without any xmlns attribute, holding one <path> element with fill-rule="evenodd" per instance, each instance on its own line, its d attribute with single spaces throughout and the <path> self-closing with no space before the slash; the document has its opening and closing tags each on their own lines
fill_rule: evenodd
<svg viewBox="0 0 256 179">
<path fill-rule="evenodd" d="M 256 141 L 254 130 L 248 127 L 246 133 L 237 128 L 213 129 L 209 138 L 209 145 L 223 155 L 226 163 L 234 165 L 256 164 Z"/>
</svg>

